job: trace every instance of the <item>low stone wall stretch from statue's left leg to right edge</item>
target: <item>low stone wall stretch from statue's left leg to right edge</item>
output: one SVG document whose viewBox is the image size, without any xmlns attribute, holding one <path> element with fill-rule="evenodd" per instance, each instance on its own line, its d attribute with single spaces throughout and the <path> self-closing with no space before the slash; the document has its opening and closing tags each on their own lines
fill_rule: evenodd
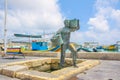
<svg viewBox="0 0 120 80">
<path fill-rule="evenodd" d="M 71 53 L 66 55 L 67 58 L 72 57 Z M 120 60 L 120 52 L 79 52 L 78 59 L 100 59 L 100 60 Z"/>
</svg>

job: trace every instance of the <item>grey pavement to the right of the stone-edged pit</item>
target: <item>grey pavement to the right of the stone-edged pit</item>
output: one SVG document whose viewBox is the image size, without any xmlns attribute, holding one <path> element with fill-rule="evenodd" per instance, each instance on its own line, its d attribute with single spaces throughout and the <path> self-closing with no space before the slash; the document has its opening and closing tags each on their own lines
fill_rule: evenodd
<svg viewBox="0 0 120 80">
<path fill-rule="evenodd" d="M 77 79 L 76 79 L 77 78 Z M 120 61 L 101 60 L 101 64 L 74 77 L 74 80 L 120 80 Z"/>
</svg>

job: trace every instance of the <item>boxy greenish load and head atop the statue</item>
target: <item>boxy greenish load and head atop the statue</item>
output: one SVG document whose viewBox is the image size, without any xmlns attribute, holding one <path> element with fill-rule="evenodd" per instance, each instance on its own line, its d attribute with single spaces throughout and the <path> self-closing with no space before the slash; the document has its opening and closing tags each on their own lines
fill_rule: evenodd
<svg viewBox="0 0 120 80">
<path fill-rule="evenodd" d="M 65 20 L 64 24 L 65 27 L 69 28 L 71 32 L 74 32 L 80 28 L 78 19 Z"/>
</svg>

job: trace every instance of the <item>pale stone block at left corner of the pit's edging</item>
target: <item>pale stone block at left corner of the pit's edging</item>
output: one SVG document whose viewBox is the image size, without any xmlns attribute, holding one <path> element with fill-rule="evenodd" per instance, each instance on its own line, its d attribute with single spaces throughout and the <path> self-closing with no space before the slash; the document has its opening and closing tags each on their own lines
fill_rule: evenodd
<svg viewBox="0 0 120 80">
<path fill-rule="evenodd" d="M 2 69 L 2 74 L 9 76 L 9 77 L 15 77 L 16 72 L 18 71 L 24 71 L 27 70 L 27 66 L 22 66 L 22 65 L 13 65 L 13 66 L 8 66 Z"/>
</svg>

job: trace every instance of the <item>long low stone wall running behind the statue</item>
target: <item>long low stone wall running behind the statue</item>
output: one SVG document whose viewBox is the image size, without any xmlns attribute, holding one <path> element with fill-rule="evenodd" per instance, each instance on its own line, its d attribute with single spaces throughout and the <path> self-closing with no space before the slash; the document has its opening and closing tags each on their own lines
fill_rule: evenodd
<svg viewBox="0 0 120 80">
<path fill-rule="evenodd" d="M 25 56 L 60 58 L 60 52 L 23 52 L 23 54 L 25 54 Z M 71 58 L 72 54 L 66 53 L 66 57 Z M 120 52 L 78 52 L 77 58 L 78 59 L 120 60 Z"/>
</svg>

